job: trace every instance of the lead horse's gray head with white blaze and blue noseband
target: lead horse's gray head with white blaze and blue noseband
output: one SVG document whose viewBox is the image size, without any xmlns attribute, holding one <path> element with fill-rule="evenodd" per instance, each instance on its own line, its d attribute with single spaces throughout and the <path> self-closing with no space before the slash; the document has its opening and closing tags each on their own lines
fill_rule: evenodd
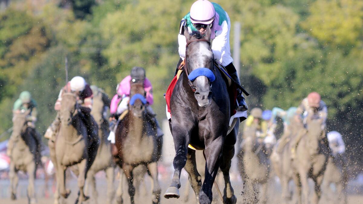
<svg viewBox="0 0 363 204">
<path fill-rule="evenodd" d="M 211 48 L 211 28 L 207 26 L 204 35 L 199 32 L 189 34 L 188 27 L 184 29 L 187 41 L 185 48 L 185 71 L 188 74 L 189 85 L 194 91 L 194 97 L 201 107 L 211 104 L 213 74 L 213 52 Z"/>
</svg>

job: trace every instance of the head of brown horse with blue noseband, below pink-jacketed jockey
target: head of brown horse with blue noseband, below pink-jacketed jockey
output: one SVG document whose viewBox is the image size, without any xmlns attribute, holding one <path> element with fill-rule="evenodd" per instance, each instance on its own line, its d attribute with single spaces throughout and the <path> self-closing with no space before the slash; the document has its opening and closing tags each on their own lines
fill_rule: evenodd
<svg viewBox="0 0 363 204">
<path fill-rule="evenodd" d="M 143 83 L 131 83 L 130 86 L 130 114 L 141 118 L 146 106 L 145 89 Z"/>
</svg>

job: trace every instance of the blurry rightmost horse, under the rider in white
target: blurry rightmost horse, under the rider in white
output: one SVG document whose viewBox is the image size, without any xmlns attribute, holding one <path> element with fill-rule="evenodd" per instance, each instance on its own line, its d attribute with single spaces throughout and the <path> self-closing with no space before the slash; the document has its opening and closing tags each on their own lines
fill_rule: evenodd
<svg viewBox="0 0 363 204">
<path fill-rule="evenodd" d="M 347 203 L 348 172 L 346 160 L 344 154 L 338 154 L 334 158 L 329 158 L 326 166 L 322 189 L 329 200 L 334 199 L 332 200 L 334 203 Z M 335 192 L 332 192 L 330 184 L 335 185 Z"/>
</svg>

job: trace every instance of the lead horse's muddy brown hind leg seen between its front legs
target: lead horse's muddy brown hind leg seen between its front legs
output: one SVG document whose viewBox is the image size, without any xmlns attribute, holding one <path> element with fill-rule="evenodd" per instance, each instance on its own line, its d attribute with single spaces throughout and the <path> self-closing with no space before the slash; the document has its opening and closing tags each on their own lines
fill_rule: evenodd
<svg viewBox="0 0 363 204">
<path fill-rule="evenodd" d="M 195 159 L 195 150 L 188 148 L 187 163 L 184 166 L 185 171 L 189 174 L 189 182 L 195 193 L 197 203 L 199 203 L 199 191 L 202 187 L 202 178 L 197 170 Z"/>
</svg>

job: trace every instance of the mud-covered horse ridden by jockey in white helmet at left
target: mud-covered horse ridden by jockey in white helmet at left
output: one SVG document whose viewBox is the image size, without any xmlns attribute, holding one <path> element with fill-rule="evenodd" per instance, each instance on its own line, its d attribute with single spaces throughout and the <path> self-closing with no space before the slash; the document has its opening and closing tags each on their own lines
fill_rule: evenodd
<svg viewBox="0 0 363 204">
<path fill-rule="evenodd" d="M 65 171 L 68 167 L 77 165 L 79 195 L 76 203 L 82 203 L 89 198 L 85 196 L 83 187 L 87 172 L 97 154 L 99 141 L 98 138 L 88 135 L 82 119 L 85 116 L 80 113 L 75 94 L 62 95 L 59 117 L 61 126 L 54 146 L 58 191 L 64 198 L 69 196 L 70 190 L 65 187 Z"/>
</svg>

